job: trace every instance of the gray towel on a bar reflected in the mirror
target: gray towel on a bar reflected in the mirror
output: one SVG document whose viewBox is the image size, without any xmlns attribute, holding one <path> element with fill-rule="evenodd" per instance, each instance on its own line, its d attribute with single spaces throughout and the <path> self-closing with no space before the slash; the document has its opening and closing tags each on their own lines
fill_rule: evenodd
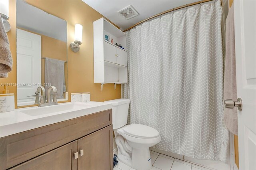
<svg viewBox="0 0 256 170">
<path fill-rule="evenodd" d="M 49 83 L 57 88 L 57 99 L 63 98 L 64 63 L 65 61 L 62 60 L 45 58 L 44 83 Z M 49 86 L 45 86 L 46 91 L 48 88 Z"/>
</svg>

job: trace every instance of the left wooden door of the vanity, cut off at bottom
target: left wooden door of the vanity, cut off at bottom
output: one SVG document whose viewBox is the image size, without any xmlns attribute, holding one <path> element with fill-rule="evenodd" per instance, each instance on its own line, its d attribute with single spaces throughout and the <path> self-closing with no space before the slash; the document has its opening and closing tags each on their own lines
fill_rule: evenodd
<svg viewBox="0 0 256 170">
<path fill-rule="evenodd" d="M 28 160 L 11 170 L 77 170 L 75 152 L 77 152 L 77 141 Z"/>
</svg>

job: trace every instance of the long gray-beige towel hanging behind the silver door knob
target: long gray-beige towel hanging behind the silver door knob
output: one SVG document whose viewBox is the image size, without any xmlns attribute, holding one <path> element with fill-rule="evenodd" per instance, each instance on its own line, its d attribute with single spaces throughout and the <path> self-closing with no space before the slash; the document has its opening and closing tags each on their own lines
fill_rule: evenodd
<svg viewBox="0 0 256 170">
<path fill-rule="evenodd" d="M 236 54 L 234 32 L 234 7 L 231 6 L 226 20 L 226 58 L 224 72 L 224 100 L 236 101 Z M 233 134 L 238 134 L 237 107 L 224 108 L 224 123 Z"/>
</svg>

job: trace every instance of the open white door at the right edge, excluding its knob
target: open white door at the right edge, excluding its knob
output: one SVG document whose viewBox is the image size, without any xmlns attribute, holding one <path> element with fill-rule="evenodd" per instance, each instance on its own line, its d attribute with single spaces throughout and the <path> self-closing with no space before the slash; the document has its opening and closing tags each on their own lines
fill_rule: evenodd
<svg viewBox="0 0 256 170">
<path fill-rule="evenodd" d="M 234 0 L 239 169 L 256 170 L 256 1 Z"/>
</svg>

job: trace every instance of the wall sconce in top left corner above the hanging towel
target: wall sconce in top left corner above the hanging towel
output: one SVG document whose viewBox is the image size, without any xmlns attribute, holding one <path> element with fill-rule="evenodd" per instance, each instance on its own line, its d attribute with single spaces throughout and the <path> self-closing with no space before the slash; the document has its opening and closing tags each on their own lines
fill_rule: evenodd
<svg viewBox="0 0 256 170">
<path fill-rule="evenodd" d="M 6 32 L 11 30 L 11 26 L 7 21 L 9 19 L 9 0 L 0 0 L 0 15 L 2 18 L 4 29 Z"/>
</svg>

